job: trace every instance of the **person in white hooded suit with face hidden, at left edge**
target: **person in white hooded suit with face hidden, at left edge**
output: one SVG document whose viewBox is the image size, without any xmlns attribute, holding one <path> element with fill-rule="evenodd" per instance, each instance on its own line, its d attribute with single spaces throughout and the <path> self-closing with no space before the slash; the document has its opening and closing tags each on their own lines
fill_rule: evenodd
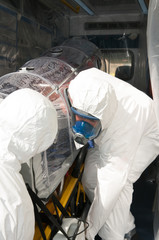
<svg viewBox="0 0 159 240">
<path fill-rule="evenodd" d="M 33 239 L 33 204 L 19 172 L 56 133 L 56 110 L 41 93 L 20 89 L 0 103 L 0 240 Z"/>
</svg>

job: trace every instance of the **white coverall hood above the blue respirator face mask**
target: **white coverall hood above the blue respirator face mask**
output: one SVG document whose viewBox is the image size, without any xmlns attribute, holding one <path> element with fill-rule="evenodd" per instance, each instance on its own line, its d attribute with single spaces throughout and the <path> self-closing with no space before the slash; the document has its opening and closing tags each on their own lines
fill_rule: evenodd
<svg viewBox="0 0 159 240">
<path fill-rule="evenodd" d="M 72 106 L 99 118 L 105 129 L 116 112 L 117 99 L 111 84 L 98 71 L 92 68 L 80 72 L 71 81 L 68 91 Z"/>
</svg>

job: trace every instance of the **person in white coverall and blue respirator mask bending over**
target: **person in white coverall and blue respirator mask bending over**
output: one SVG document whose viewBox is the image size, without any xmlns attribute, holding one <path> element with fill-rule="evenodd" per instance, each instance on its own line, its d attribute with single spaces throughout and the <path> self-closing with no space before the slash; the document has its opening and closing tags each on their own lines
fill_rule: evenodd
<svg viewBox="0 0 159 240">
<path fill-rule="evenodd" d="M 153 100 L 99 69 L 80 72 L 68 98 L 75 141 L 94 139 L 82 183 L 92 202 L 86 239 L 124 240 L 135 229 L 130 212 L 133 183 L 159 154 Z"/>
</svg>

